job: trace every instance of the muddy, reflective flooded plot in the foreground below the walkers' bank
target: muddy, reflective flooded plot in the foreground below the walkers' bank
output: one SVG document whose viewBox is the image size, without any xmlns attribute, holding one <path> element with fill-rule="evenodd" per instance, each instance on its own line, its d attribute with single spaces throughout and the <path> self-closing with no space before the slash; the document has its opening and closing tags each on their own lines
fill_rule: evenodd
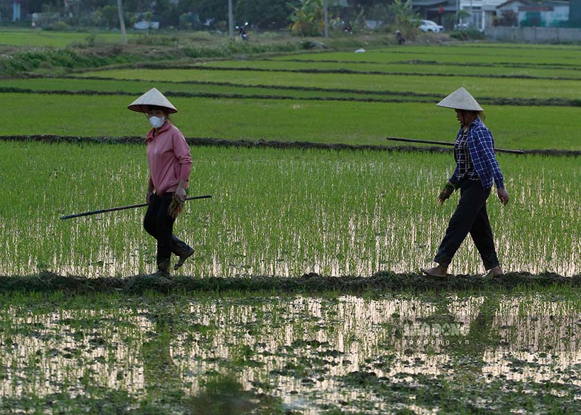
<svg viewBox="0 0 581 415">
<path fill-rule="evenodd" d="M 581 407 L 568 293 L 6 299 L 0 409 L 122 391 L 124 409 L 187 413 L 215 374 L 301 414 Z"/>
</svg>

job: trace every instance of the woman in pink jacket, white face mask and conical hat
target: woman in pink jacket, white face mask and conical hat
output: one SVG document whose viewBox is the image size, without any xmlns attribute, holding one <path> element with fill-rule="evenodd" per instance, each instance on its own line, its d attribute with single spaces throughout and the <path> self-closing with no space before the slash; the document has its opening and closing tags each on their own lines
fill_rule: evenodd
<svg viewBox="0 0 581 415">
<path fill-rule="evenodd" d="M 149 164 L 145 198 L 149 206 L 143 228 L 157 240 L 158 272 L 167 275 L 172 252 L 179 257 L 174 270 L 194 253 L 192 247 L 173 234 L 177 217 L 174 206 L 185 201 L 190 181 L 190 147 L 181 131 L 169 121 L 169 114 L 178 112 L 176 107 L 157 89 L 147 91 L 127 108 L 145 113 L 152 127 L 145 140 Z"/>
</svg>

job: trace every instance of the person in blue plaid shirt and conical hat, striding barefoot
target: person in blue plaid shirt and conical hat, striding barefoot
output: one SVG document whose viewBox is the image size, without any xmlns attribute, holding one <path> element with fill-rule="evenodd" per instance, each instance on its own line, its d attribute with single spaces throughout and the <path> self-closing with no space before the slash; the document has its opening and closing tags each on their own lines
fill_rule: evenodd
<svg viewBox="0 0 581 415">
<path fill-rule="evenodd" d="M 445 277 L 452 257 L 470 233 L 484 268 L 489 270 L 486 277 L 499 277 L 502 270 L 486 212 L 486 199 L 492 190 L 492 183 L 496 185 L 498 198 L 504 205 L 509 197 L 496 159 L 494 138 L 481 120 L 482 107 L 464 88 L 457 89 L 437 105 L 456 110 L 456 118 L 461 125 L 454 143 L 456 169 L 438 201 L 444 203 L 457 189 L 460 189 L 460 200 L 434 257 L 438 265 L 420 269 L 432 277 Z"/>
</svg>

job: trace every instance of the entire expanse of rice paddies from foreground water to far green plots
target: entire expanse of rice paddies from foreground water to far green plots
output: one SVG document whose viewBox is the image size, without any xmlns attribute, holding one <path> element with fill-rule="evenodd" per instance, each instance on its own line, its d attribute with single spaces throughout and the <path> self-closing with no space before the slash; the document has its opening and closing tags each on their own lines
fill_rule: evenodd
<svg viewBox="0 0 581 415">
<path fill-rule="evenodd" d="M 579 413 L 580 52 L 405 46 L 0 80 L 0 412 Z M 153 86 L 190 138 L 190 195 L 212 195 L 176 222 L 196 252 L 172 279 L 154 273 L 143 209 L 59 219 L 144 201 L 148 124 L 126 107 Z M 459 86 L 497 147 L 525 154 L 497 154 L 511 199 L 488 201 L 506 276 L 483 279 L 468 238 L 443 284 L 418 272 L 457 203 L 436 203 L 454 158 L 385 138 L 452 142 L 435 103 Z"/>
</svg>

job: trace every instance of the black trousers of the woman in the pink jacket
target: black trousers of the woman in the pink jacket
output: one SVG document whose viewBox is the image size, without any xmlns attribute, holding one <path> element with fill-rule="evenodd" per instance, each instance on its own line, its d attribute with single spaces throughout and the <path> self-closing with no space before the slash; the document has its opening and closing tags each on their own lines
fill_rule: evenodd
<svg viewBox="0 0 581 415">
<path fill-rule="evenodd" d="M 152 194 L 143 219 L 143 228 L 158 242 L 157 266 L 159 270 L 169 268 L 172 252 L 181 256 L 191 249 L 187 243 L 173 234 L 175 219 L 167 212 L 173 196 L 174 194 L 169 192 L 161 195 Z"/>
</svg>

